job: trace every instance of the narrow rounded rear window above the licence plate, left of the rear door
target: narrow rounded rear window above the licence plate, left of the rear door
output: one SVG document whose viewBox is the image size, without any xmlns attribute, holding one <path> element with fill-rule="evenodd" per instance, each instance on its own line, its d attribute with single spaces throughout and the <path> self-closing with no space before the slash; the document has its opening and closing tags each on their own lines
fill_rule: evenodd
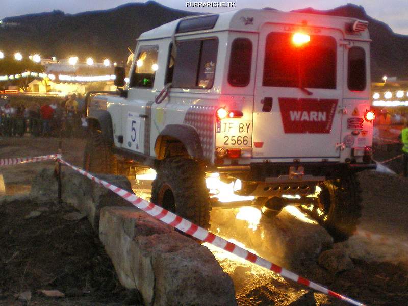
<svg viewBox="0 0 408 306">
<path fill-rule="evenodd" d="M 244 87 L 251 78 L 252 42 L 247 38 L 234 39 L 231 47 L 228 83 Z"/>
</svg>

